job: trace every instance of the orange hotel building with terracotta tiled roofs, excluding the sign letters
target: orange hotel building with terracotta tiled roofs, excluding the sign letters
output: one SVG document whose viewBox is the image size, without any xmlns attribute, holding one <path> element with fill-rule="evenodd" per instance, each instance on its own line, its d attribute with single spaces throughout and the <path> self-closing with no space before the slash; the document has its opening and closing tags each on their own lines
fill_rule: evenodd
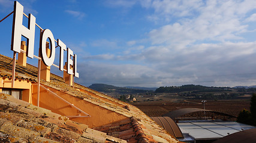
<svg viewBox="0 0 256 143">
<path fill-rule="evenodd" d="M 61 137 L 65 137 L 67 142 L 81 142 L 81 139 L 96 142 L 178 142 L 138 108 L 77 83 L 70 86 L 65 83 L 65 77 L 52 73 L 49 82 L 41 79 L 38 100 L 38 68 L 30 64 L 22 66 L 19 60 L 16 61 L 13 78 L 12 59 L 0 55 L 0 92 L 4 93 L 0 100 L 0 114 L 3 115 L 0 116 L 0 122 L 6 120 L 13 129 L 8 130 L 9 125 L 2 124 L 0 131 L 5 136 L 14 136 L 26 142 L 31 142 L 31 135 L 35 133 L 35 138 L 52 142 L 63 142 L 59 140 Z M 14 86 L 11 84 L 13 79 Z M 29 116 L 28 119 L 24 115 Z M 10 116 L 15 116 L 15 121 Z M 35 119 L 47 123 L 40 124 Z M 55 128 L 49 128 L 49 125 Z M 77 125 L 82 126 L 82 129 Z M 44 128 L 46 130 L 42 131 Z M 17 130 L 25 132 L 25 135 Z M 94 132 L 98 137 L 94 137 L 97 136 Z M 53 138 L 52 135 L 59 137 Z"/>
</svg>

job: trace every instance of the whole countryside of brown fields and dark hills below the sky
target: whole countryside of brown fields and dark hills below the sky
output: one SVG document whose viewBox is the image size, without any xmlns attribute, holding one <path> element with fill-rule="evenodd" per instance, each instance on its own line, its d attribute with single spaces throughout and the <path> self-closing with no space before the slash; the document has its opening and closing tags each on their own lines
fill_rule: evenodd
<svg viewBox="0 0 256 143">
<path fill-rule="evenodd" d="M 229 88 L 201 85 L 165 86 L 155 91 L 104 84 L 94 84 L 89 87 L 130 102 L 150 117 L 162 116 L 178 108 L 204 108 L 202 100 L 206 100 L 206 110 L 238 116 L 243 108 L 249 110 L 251 95 L 256 92 L 255 87 Z"/>
</svg>

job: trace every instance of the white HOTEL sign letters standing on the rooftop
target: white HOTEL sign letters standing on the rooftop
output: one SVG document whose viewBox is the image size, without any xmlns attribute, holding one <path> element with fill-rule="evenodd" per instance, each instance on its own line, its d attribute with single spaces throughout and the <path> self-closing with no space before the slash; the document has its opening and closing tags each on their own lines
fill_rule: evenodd
<svg viewBox="0 0 256 143">
<path fill-rule="evenodd" d="M 29 14 L 28 18 L 28 28 L 23 26 L 23 6 L 15 1 L 14 2 L 14 15 L 13 15 L 13 33 L 11 38 L 11 50 L 14 52 L 20 53 L 21 38 L 24 36 L 28 39 L 28 50 L 26 51 L 26 56 L 29 58 L 34 58 L 34 43 L 35 43 L 35 17 L 32 14 Z M 41 58 L 43 63 L 46 66 L 52 66 L 53 61 L 55 60 L 55 39 L 53 33 L 49 29 L 44 29 L 40 32 L 40 50 Z M 50 57 L 47 57 L 46 53 L 46 41 L 49 38 L 49 43 L 51 46 Z M 57 39 L 57 45 L 60 48 L 59 52 L 59 70 L 63 71 L 64 67 L 64 51 L 67 51 L 67 73 L 74 74 L 74 76 L 79 77 L 77 73 L 77 55 L 73 54 L 73 51 L 70 48 L 67 48 L 65 43 L 60 39 Z M 71 59 L 73 57 L 73 60 Z M 74 70 L 70 69 L 73 66 Z"/>
</svg>

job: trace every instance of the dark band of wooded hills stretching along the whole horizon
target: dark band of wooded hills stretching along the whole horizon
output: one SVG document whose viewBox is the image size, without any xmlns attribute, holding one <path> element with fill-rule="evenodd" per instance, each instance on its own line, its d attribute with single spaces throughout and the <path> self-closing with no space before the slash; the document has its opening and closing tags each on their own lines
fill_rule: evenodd
<svg viewBox="0 0 256 143">
<path fill-rule="evenodd" d="M 208 87 L 202 85 L 162 86 L 154 91 L 132 89 L 137 87 L 118 87 L 106 84 L 92 84 L 89 88 L 118 98 L 133 95 L 137 101 L 158 100 L 234 100 L 248 99 L 256 88 Z"/>
</svg>

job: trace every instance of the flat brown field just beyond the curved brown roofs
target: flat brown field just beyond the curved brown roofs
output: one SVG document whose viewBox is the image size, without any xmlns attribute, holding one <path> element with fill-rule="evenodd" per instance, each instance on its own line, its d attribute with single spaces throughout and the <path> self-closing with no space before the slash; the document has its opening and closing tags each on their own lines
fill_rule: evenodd
<svg viewBox="0 0 256 143">
<path fill-rule="evenodd" d="M 204 108 L 201 100 L 145 101 L 134 102 L 132 105 L 138 107 L 149 117 L 162 116 L 163 114 L 178 108 Z M 249 110 L 249 107 L 249 100 L 207 100 L 205 103 L 206 110 L 219 111 L 233 116 L 238 116 L 243 108 Z"/>
</svg>

